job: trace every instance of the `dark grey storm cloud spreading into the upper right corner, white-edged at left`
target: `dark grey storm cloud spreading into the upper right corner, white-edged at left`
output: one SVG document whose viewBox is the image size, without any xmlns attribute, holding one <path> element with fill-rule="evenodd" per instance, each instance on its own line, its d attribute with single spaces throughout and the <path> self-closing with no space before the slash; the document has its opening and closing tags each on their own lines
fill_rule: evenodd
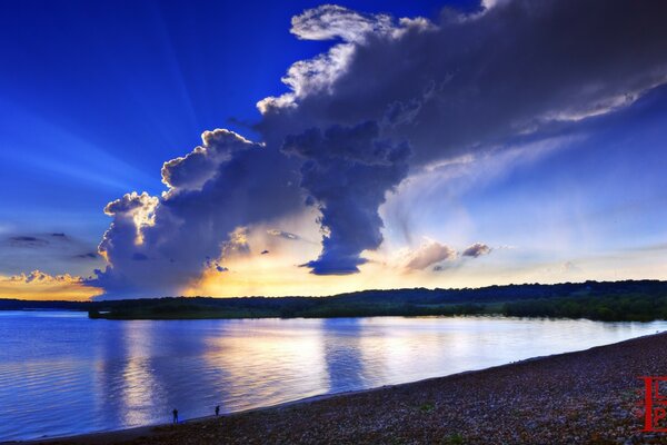
<svg viewBox="0 0 667 445">
<path fill-rule="evenodd" d="M 292 32 L 344 42 L 292 66 L 292 91 L 260 103 L 267 134 L 382 121 L 415 166 L 608 112 L 666 81 L 664 1 L 504 1 L 392 27 L 320 9 Z M 337 13 L 347 27 L 322 31 Z"/>
</svg>

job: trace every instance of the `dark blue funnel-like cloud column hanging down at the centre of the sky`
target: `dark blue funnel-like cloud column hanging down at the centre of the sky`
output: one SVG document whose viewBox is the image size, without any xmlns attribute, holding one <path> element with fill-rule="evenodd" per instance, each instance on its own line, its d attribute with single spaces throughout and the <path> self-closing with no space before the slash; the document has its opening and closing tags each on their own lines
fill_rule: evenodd
<svg viewBox="0 0 667 445">
<path fill-rule="evenodd" d="M 306 266 L 317 275 L 359 271 L 366 249 L 382 243 L 378 214 L 385 194 L 408 172 L 410 149 L 378 139 L 376 122 L 312 128 L 286 139 L 283 151 L 303 160 L 301 187 L 321 211 L 322 251 Z"/>
</svg>

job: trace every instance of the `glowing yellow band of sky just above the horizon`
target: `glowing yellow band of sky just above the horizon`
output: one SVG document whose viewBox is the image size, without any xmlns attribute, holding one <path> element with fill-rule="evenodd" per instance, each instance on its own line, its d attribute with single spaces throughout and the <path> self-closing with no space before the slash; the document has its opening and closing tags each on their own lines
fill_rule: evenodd
<svg viewBox="0 0 667 445">
<path fill-rule="evenodd" d="M 305 239 L 285 239 L 267 236 L 266 228 L 249 231 L 243 243 L 248 251 L 229 256 L 227 270 L 207 268 L 202 275 L 181 289 L 183 296 L 245 297 L 245 296 L 329 296 L 367 289 L 396 288 L 461 288 L 524 283 L 565 283 L 621 279 L 666 279 L 667 265 L 659 261 L 663 250 L 625 250 L 605 255 L 563 260 L 517 264 L 520 248 L 494 248 L 479 258 L 460 254 L 440 261 L 441 271 L 410 269 L 406 265 L 419 253 L 416 250 L 366 251 L 368 263 L 351 275 L 317 276 L 307 267 L 299 267 L 308 258 L 317 257 L 319 245 Z M 429 244 L 430 243 L 430 244 Z M 432 240 L 422 245 L 432 246 Z M 266 249 L 267 251 L 263 253 Z M 262 254 L 263 253 L 263 254 Z M 0 276 L 0 298 L 32 300 L 89 300 L 102 295 L 103 289 L 88 286 L 81 277 L 69 274 L 49 275 L 39 270 L 13 276 Z M 128 296 L 131 298 L 131 296 Z"/>
</svg>

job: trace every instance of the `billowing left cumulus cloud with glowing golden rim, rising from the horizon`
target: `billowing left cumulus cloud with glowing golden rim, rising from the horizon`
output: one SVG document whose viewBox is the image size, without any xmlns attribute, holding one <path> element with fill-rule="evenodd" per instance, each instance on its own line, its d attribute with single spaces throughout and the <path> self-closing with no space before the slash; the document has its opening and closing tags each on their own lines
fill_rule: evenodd
<svg viewBox="0 0 667 445">
<path fill-rule="evenodd" d="M 88 283 L 106 297 L 173 295 L 213 258 L 247 249 L 245 227 L 300 206 L 291 161 L 228 130 L 207 131 L 202 145 L 168 161 L 161 196 L 131 192 L 110 202 L 113 218 L 99 251 L 108 260 Z M 141 260 L 137 260 L 141 258 Z"/>
</svg>

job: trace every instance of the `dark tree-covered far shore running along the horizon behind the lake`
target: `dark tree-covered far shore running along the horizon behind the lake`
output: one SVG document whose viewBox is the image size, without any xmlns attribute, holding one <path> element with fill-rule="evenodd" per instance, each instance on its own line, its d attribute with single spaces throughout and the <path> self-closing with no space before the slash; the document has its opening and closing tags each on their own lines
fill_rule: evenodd
<svg viewBox="0 0 667 445">
<path fill-rule="evenodd" d="M 331 297 L 163 297 L 96 301 L 0 299 L 0 310 L 66 309 L 91 318 L 192 319 L 506 315 L 594 320 L 667 319 L 667 281 L 586 281 L 462 289 L 364 290 Z"/>
</svg>

